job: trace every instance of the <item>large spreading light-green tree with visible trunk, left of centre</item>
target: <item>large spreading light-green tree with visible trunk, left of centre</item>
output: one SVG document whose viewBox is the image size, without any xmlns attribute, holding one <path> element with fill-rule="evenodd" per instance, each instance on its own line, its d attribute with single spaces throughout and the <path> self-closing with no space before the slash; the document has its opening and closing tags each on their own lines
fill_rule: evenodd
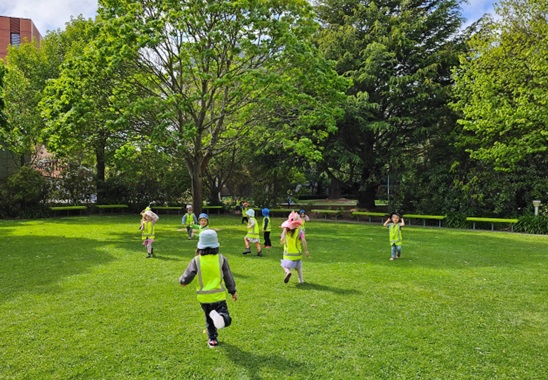
<svg viewBox="0 0 548 380">
<path fill-rule="evenodd" d="M 126 110 L 154 115 L 151 143 L 184 160 L 196 210 L 211 158 L 254 133 L 318 156 L 344 82 L 311 42 L 307 1 L 101 0 L 98 13 L 101 55 L 134 68 Z"/>
</svg>

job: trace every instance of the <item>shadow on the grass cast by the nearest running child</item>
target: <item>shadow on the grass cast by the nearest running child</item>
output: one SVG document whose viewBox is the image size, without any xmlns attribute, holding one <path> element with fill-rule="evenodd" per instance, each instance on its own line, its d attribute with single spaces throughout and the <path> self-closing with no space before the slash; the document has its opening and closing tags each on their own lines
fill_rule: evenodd
<svg viewBox="0 0 548 380">
<path fill-rule="evenodd" d="M 271 351 L 265 354 L 256 352 L 243 351 L 239 347 L 222 342 L 219 349 L 223 349 L 227 353 L 227 358 L 235 365 L 245 368 L 249 379 L 262 379 L 261 372 L 265 372 L 264 368 L 268 368 L 280 377 L 289 378 L 295 373 L 307 373 L 306 364 L 284 358 L 282 356 L 273 355 Z M 283 375 L 285 373 L 285 376 Z"/>
</svg>

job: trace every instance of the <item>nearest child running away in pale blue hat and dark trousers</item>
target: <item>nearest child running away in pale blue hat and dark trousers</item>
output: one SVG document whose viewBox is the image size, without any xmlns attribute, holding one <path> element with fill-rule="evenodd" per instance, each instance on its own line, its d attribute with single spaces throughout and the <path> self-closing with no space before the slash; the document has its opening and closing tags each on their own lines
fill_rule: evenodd
<svg viewBox="0 0 548 380">
<path fill-rule="evenodd" d="M 219 240 L 214 230 L 203 231 L 198 240 L 196 256 L 190 261 L 179 283 L 186 286 L 198 276 L 196 293 L 205 314 L 208 334 L 207 344 L 214 348 L 219 344 L 218 330 L 230 326 L 232 318 L 226 304 L 226 292 L 236 301 L 236 283 L 228 260 L 219 253 Z"/>
</svg>

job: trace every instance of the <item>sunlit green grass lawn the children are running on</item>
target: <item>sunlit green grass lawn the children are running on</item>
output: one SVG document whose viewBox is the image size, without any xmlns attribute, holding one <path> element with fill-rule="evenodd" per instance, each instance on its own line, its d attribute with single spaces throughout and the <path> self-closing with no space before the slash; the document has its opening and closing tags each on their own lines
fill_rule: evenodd
<svg viewBox="0 0 548 380">
<path fill-rule="evenodd" d="M 215 349 L 180 216 L 153 259 L 138 215 L 0 221 L 0 379 L 546 378 L 548 236 L 406 227 L 391 262 L 380 225 L 312 220 L 284 284 L 279 231 L 243 256 L 240 221 L 211 216 L 239 297 Z"/>
</svg>

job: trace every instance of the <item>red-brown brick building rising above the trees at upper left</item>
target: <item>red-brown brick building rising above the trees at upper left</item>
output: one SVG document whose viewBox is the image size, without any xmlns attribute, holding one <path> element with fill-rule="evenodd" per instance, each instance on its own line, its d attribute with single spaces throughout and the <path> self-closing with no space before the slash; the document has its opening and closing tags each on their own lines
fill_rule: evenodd
<svg viewBox="0 0 548 380">
<path fill-rule="evenodd" d="M 0 16 L 0 59 L 6 57 L 8 45 L 19 46 L 33 40 L 40 46 L 42 35 L 31 19 Z"/>
</svg>

